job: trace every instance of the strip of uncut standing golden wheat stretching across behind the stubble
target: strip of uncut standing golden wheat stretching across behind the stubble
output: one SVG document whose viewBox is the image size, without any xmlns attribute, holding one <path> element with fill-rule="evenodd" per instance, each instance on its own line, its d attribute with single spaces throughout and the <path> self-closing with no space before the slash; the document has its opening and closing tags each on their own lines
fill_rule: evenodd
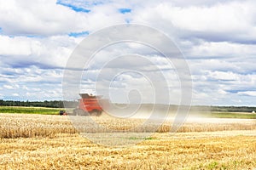
<svg viewBox="0 0 256 170">
<path fill-rule="evenodd" d="M 172 120 L 167 120 L 161 124 L 155 120 L 121 119 L 110 116 L 76 116 L 75 118 L 69 119 L 68 116 L 0 114 L 0 138 L 53 137 L 58 133 L 78 132 L 166 133 L 171 131 L 173 122 Z M 177 132 L 213 132 L 253 129 L 256 129 L 256 122 L 254 120 L 227 121 L 226 119 L 200 119 L 198 121 L 188 120 Z"/>
</svg>

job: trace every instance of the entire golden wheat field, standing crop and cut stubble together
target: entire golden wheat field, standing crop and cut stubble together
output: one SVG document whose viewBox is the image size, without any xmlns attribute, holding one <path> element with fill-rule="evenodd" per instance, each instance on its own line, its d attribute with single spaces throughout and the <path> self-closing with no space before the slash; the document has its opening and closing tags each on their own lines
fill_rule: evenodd
<svg viewBox="0 0 256 170">
<path fill-rule="evenodd" d="M 89 118 L 89 117 L 87 117 Z M 123 133 L 143 119 L 91 117 Z M 86 119 L 86 118 L 82 118 Z M 122 140 L 137 144 L 110 147 L 79 135 L 68 116 L 0 114 L 0 169 L 253 169 L 256 122 L 247 119 L 190 117 L 178 133 L 167 133 L 172 119 L 148 138 L 140 133 Z M 101 139 L 105 132 L 89 132 Z M 80 133 L 81 134 L 81 133 Z M 108 133 L 105 133 L 108 134 Z M 125 133 L 124 133 L 125 134 Z M 106 137 L 104 137 L 107 139 Z M 108 136 L 108 142 L 113 139 Z"/>
</svg>

